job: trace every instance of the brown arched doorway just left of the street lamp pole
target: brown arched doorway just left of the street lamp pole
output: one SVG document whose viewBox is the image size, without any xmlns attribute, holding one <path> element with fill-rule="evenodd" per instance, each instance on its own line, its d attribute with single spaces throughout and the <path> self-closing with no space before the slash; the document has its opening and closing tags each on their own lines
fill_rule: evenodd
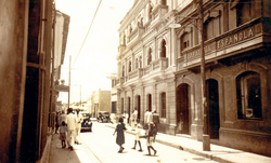
<svg viewBox="0 0 271 163">
<path fill-rule="evenodd" d="M 176 93 L 177 104 L 177 134 L 191 134 L 191 113 L 190 113 L 190 86 L 180 84 Z"/>
</svg>

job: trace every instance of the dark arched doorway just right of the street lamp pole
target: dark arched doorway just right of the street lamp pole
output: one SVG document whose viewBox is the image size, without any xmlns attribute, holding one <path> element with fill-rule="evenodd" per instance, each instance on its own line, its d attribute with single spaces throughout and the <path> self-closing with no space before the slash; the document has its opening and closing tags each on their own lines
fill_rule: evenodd
<svg viewBox="0 0 271 163">
<path fill-rule="evenodd" d="M 209 113 L 208 133 L 210 138 L 219 138 L 219 95 L 218 82 L 214 79 L 207 80 L 207 111 Z M 208 117 L 207 117 L 208 119 Z"/>
</svg>

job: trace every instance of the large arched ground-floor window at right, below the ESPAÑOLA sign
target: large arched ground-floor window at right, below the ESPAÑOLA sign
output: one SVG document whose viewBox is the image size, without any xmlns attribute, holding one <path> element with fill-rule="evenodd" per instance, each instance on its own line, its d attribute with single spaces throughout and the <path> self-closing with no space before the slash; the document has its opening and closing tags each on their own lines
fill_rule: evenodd
<svg viewBox="0 0 271 163">
<path fill-rule="evenodd" d="M 236 78 L 236 98 L 238 119 L 262 118 L 259 73 L 247 71 Z"/>
</svg>

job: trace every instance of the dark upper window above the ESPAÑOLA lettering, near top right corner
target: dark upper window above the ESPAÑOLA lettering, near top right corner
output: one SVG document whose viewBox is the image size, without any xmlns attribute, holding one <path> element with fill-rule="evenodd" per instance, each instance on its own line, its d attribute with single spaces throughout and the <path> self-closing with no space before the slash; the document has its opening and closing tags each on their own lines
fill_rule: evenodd
<svg viewBox="0 0 271 163">
<path fill-rule="evenodd" d="M 237 26 L 256 17 L 255 0 L 241 0 L 236 5 Z"/>
</svg>

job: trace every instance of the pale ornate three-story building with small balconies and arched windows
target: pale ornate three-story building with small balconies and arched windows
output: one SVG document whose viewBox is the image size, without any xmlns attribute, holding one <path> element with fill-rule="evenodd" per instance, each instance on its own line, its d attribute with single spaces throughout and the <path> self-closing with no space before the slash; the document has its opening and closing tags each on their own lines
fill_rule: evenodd
<svg viewBox="0 0 271 163">
<path fill-rule="evenodd" d="M 159 130 L 175 134 L 176 99 L 172 4 L 167 1 L 136 0 L 120 22 L 118 46 L 118 113 L 154 109 L 160 116 Z"/>
</svg>

